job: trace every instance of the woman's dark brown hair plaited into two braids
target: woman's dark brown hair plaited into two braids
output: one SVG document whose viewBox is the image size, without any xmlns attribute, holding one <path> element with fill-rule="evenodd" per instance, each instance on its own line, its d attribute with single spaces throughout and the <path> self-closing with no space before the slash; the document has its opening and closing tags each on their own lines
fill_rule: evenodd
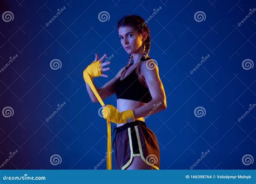
<svg viewBox="0 0 256 184">
<path fill-rule="evenodd" d="M 125 16 L 123 18 L 121 18 L 118 21 L 117 24 L 117 29 L 119 29 L 119 27 L 122 26 L 132 26 L 138 33 L 142 34 L 143 32 L 147 33 L 147 38 L 144 41 L 144 52 L 142 55 L 142 58 L 140 58 L 140 62 L 138 63 L 138 67 L 136 68 L 136 73 L 139 73 L 139 68 L 140 65 L 142 65 L 142 62 L 145 60 L 145 58 L 147 58 L 147 56 L 149 55 L 150 52 L 150 30 L 149 27 L 146 25 L 145 20 L 137 15 L 131 15 L 131 16 Z M 127 65 L 125 67 L 125 70 L 127 70 L 133 63 L 133 56 L 132 54 L 130 54 Z"/>
</svg>

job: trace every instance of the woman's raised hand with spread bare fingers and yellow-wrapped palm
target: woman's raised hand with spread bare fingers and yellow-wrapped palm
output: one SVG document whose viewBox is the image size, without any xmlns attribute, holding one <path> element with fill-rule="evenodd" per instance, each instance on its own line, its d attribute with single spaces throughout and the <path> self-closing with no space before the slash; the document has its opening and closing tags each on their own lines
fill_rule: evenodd
<svg viewBox="0 0 256 184">
<path fill-rule="evenodd" d="M 103 74 L 103 72 L 110 70 L 110 67 L 103 68 L 106 65 L 110 65 L 110 61 L 103 62 L 102 61 L 106 58 L 106 54 L 102 56 L 102 58 L 99 59 L 98 54 L 95 55 L 95 61 L 93 61 L 87 68 L 85 68 L 83 75 L 84 75 L 84 80 L 86 81 L 85 73 L 89 74 L 91 80 L 93 77 L 98 77 L 98 76 L 103 76 L 103 77 L 108 77 L 107 75 Z"/>
</svg>

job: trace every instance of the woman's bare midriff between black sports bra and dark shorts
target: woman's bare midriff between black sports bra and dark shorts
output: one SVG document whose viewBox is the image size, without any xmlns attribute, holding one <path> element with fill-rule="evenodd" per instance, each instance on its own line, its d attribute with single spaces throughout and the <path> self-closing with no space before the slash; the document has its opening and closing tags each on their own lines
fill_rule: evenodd
<svg viewBox="0 0 256 184">
<path fill-rule="evenodd" d="M 136 108 L 142 107 L 143 105 L 145 105 L 145 103 L 143 103 L 143 102 L 127 100 L 127 99 L 122 99 L 122 98 L 117 99 L 117 110 L 119 112 L 123 112 L 125 110 L 130 110 L 130 109 L 136 109 Z M 136 118 L 136 120 L 145 122 L 145 117 Z M 117 124 L 117 127 L 123 126 L 124 124 L 125 123 Z"/>
</svg>

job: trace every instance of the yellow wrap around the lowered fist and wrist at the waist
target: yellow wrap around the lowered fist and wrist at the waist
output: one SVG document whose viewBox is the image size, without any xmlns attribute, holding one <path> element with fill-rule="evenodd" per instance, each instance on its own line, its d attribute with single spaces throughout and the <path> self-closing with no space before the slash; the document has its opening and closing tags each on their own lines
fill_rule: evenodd
<svg viewBox="0 0 256 184">
<path fill-rule="evenodd" d="M 119 112 L 113 105 L 106 105 L 103 108 L 103 117 L 113 123 L 126 123 L 128 119 L 131 119 L 134 122 L 133 110 L 126 110 Z"/>
</svg>

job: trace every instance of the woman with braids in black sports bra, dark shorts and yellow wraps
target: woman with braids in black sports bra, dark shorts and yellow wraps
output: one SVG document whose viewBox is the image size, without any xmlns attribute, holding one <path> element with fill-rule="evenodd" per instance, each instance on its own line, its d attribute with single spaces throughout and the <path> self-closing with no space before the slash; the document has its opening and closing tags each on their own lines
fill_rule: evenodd
<svg viewBox="0 0 256 184">
<path fill-rule="evenodd" d="M 113 105 L 103 108 L 104 118 L 117 124 L 113 140 L 116 169 L 159 169 L 158 141 L 153 131 L 146 126 L 145 116 L 166 109 L 166 96 L 158 67 L 149 58 L 150 30 L 140 16 L 123 17 L 117 29 L 120 42 L 130 55 L 128 63 L 103 87 L 96 87 L 102 99 L 114 93 L 118 99 L 117 108 Z M 84 73 L 87 72 L 91 79 L 107 77 L 103 72 L 110 69 L 104 68 L 110 61 L 102 63 L 105 57 L 106 54 L 98 59 L 96 54 L 95 61 Z M 86 88 L 92 102 L 98 102 L 87 82 Z"/>
</svg>

